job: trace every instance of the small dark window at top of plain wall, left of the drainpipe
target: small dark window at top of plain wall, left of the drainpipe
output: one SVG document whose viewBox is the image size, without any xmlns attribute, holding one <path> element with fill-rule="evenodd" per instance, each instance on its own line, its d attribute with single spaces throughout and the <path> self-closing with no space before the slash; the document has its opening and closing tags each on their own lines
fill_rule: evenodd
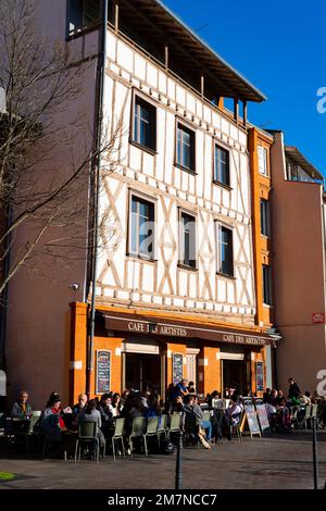
<svg viewBox="0 0 326 511">
<path fill-rule="evenodd" d="M 100 2 L 98 0 L 68 0 L 70 35 L 84 30 L 100 21 Z"/>
</svg>

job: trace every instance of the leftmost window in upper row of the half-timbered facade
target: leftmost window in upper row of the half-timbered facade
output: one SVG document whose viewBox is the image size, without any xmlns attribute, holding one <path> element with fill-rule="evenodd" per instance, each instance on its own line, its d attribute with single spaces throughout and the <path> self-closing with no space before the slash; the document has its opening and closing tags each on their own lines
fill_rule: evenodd
<svg viewBox="0 0 326 511">
<path fill-rule="evenodd" d="M 156 150 L 156 109 L 139 96 L 135 96 L 134 141 Z"/>
</svg>

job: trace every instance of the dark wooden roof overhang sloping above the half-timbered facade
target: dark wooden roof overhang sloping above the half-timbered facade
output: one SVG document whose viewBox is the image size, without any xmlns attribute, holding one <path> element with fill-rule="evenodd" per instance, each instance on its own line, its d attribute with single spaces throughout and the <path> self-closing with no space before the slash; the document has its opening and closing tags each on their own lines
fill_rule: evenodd
<svg viewBox="0 0 326 511">
<path fill-rule="evenodd" d="M 266 97 L 240 73 L 225 62 L 160 0 L 120 0 L 120 25 L 139 34 L 170 62 L 200 84 L 204 76 L 205 97 L 228 97 L 261 102 Z M 123 30 L 123 28 L 122 28 Z"/>
</svg>

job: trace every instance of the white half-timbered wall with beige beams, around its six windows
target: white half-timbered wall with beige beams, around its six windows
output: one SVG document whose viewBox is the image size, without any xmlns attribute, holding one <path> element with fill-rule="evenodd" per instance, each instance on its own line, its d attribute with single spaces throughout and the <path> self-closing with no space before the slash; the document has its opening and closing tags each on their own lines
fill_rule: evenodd
<svg viewBox="0 0 326 511">
<path fill-rule="evenodd" d="M 135 95 L 156 108 L 154 154 L 129 142 Z M 121 132 L 101 192 L 101 212 L 109 220 L 99 251 L 98 300 L 205 312 L 253 324 L 246 132 L 109 29 L 104 96 L 108 132 L 114 133 L 118 123 Z M 175 166 L 177 120 L 196 130 L 196 175 Z M 214 141 L 229 150 L 230 189 L 213 184 Z M 155 261 L 126 256 L 133 192 L 155 203 Z M 178 266 L 179 209 L 196 216 L 197 271 Z M 216 223 L 233 229 L 235 278 L 216 274 Z"/>
</svg>

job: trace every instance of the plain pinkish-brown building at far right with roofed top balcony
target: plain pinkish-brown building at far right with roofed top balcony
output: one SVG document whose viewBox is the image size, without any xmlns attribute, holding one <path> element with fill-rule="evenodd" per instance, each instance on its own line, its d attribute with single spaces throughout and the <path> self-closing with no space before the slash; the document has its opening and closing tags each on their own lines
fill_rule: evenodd
<svg viewBox="0 0 326 511">
<path fill-rule="evenodd" d="M 281 334 L 277 382 L 316 389 L 326 364 L 325 196 L 323 176 L 274 132 L 272 223 L 275 323 Z"/>
</svg>

